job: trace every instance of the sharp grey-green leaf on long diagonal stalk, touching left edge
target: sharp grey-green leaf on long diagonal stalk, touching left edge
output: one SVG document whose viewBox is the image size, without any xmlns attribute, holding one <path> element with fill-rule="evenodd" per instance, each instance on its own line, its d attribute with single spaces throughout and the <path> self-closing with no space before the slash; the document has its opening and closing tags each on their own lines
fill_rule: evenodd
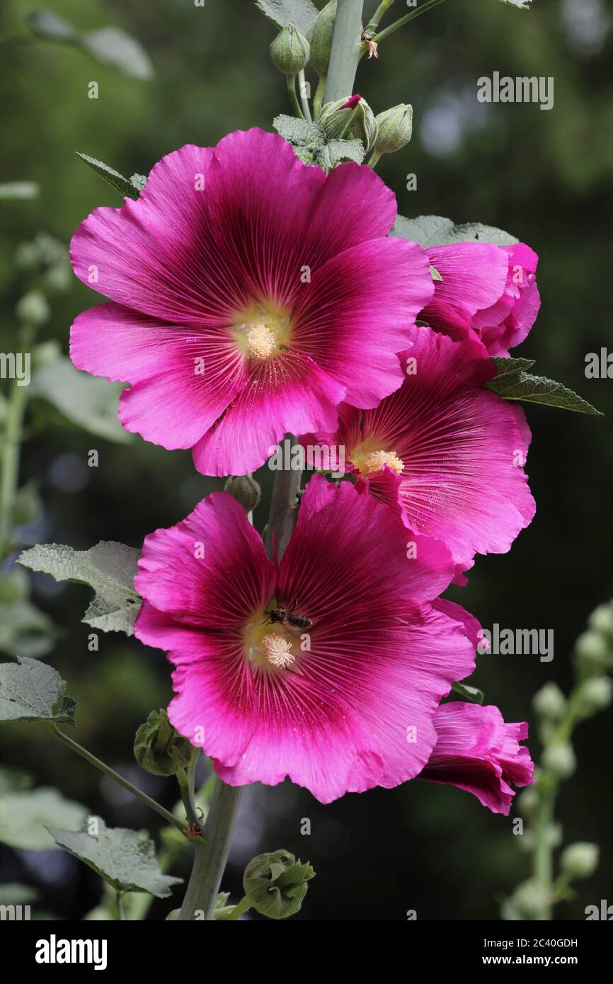
<svg viewBox="0 0 613 984">
<path fill-rule="evenodd" d="M 18 657 L 16 663 L 0 663 L 0 721 L 55 721 L 75 725 L 72 697 L 52 666 Z"/>
</svg>

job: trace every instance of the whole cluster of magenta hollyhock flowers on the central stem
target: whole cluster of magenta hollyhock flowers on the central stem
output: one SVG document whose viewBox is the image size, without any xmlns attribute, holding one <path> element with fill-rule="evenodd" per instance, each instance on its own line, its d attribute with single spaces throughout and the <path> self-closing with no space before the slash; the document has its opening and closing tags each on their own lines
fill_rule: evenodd
<svg viewBox="0 0 613 984">
<path fill-rule="evenodd" d="M 507 813 L 531 781 L 526 726 L 441 705 L 479 626 L 440 595 L 534 512 L 523 414 L 484 384 L 536 316 L 536 257 L 426 250 L 395 218 L 371 168 L 326 174 L 263 131 L 184 147 L 75 233 L 75 271 L 109 303 L 77 318 L 71 354 L 130 384 L 124 427 L 204 474 L 254 471 L 286 433 L 346 449 L 347 480 L 310 480 L 280 560 L 226 492 L 146 538 L 136 634 L 168 651 L 169 719 L 219 776 L 289 776 L 322 802 L 421 776 Z"/>
</svg>

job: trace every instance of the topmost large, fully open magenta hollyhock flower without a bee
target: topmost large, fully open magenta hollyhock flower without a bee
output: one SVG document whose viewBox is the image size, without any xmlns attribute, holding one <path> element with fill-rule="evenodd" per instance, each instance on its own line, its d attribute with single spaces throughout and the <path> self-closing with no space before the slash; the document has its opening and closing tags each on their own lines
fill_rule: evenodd
<svg viewBox="0 0 613 984">
<path fill-rule="evenodd" d="M 255 470 L 285 433 L 334 429 L 340 400 L 398 389 L 434 287 L 395 217 L 371 168 L 327 176 L 262 130 L 183 147 L 77 229 L 75 272 L 111 303 L 75 321 L 73 362 L 131 384 L 127 430 L 193 448 L 205 474 Z"/>
</svg>

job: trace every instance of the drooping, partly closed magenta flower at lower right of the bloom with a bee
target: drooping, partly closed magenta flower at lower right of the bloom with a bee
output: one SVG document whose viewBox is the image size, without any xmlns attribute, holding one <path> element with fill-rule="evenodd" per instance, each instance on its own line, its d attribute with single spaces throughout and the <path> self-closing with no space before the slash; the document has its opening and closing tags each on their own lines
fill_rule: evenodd
<svg viewBox="0 0 613 984">
<path fill-rule="evenodd" d="M 534 764 L 525 746 L 527 724 L 506 724 L 498 707 L 444 704 L 434 715 L 438 734 L 420 779 L 459 786 L 493 813 L 507 815 L 515 786 L 534 781 Z"/>
</svg>

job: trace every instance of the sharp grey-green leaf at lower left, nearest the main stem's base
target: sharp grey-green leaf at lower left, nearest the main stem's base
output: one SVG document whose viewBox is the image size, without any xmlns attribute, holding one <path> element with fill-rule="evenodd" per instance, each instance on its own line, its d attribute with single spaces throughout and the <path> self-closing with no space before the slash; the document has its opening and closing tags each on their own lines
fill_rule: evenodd
<svg viewBox="0 0 613 984">
<path fill-rule="evenodd" d="M 53 827 L 49 827 L 49 833 L 56 844 L 89 865 L 117 892 L 151 892 L 157 898 L 166 898 L 172 886 L 183 881 L 162 875 L 153 840 L 146 830 L 106 827 L 99 817 L 90 818 L 88 828 L 93 819 L 97 821 L 97 833 Z"/>
</svg>

